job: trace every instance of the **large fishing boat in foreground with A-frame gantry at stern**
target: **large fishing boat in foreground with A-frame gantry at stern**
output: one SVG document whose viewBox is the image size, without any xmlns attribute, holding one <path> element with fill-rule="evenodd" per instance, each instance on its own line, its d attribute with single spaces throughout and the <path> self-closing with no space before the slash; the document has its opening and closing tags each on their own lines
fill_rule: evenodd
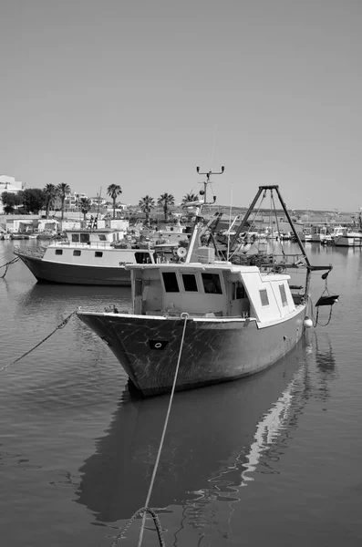
<svg viewBox="0 0 362 547">
<path fill-rule="evenodd" d="M 311 324 L 306 318 L 310 274 L 331 266 L 309 263 L 277 186 L 259 188 L 233 241 L 266 191 L 279 197 L 302 260 L 264 262 L 263 269 L 218 260 L 214 248 L 201 245 L 201 200 L 193 203 L 198 208 L 196 222 L 187 251 L 178 251 L 179 262 L 126 266 L 131 273 L 131 314 L 117 309 L 78 312 L 144 396 L 171 391 L 176 370 L 178 390 L 257 373 L 291 350 Z M 287 266 L 305 267 L 305 286 L 297 287 L 297 293 L 289 284 Z"/>
</svg>

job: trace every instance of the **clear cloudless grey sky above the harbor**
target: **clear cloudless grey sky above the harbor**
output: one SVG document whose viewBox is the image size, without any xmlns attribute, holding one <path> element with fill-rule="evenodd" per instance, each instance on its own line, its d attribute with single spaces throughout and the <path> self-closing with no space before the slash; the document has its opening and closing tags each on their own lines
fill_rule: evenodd
<svg viewBox="0 0 362 547">
<path fill-rule="evenodd" d="M 360 0 L 2 0 L 0 174 L 362 207 Z"/>
</svg>

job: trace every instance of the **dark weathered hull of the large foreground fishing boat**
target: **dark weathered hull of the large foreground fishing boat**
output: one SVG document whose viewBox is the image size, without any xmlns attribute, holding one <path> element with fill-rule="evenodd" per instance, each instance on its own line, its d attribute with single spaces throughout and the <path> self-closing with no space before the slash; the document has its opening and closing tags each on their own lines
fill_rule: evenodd
<svg viewBox="0 0 362 547">
<path fill-rule="evenodd" d="M 110 347 L 144 396 L 171 391 L 184 319 L 78 313 Z M 189 318 L 181 350 L 177 390 L 255 374 L 290 351 L 303 333 L 305 305 L 274 325 L 253 319 Z"/>
</svg>

